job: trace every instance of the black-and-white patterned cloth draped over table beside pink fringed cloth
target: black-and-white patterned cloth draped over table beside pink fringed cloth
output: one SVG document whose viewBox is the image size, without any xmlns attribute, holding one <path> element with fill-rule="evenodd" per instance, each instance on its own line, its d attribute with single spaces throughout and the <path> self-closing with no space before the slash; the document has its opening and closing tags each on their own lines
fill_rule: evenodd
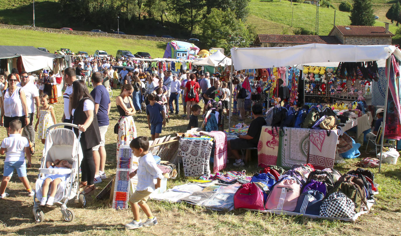
<svg viewBox="0 0 401 236">
<path fill-rule="evenodd" d="M 185 139 L 179 141 L 178 156 L 182 156 L 185 176 L 200 176 L 210 174 L 210 154 L 213 142 L 211 140 Z"/>
</svg>

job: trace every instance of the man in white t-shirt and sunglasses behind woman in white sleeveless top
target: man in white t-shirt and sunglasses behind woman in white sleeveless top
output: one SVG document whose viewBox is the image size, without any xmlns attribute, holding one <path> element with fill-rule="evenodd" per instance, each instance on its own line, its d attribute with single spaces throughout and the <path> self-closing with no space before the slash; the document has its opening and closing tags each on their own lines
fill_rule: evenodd
<svg viewBox="0 0 401 236">
<path fill-rule="evenodd" d="M 28 138 L 30 142 L 35 143 L 35 130 L 32 125 L 33 117 L 38 110 L 39 106 L 39 90 L 33 84 L 29 83 L 29 76 L 28 73 L 23 71 L 20 76 L 21 82 L 17 84 L 18 87 L 22 88 L 25 92 L 26 96 L 26 106 L 28 106 L 28 113 L 29 113 L 29 124 L 26 125 L 23 129 L 22 136 Z M 36 115 L 36 118 L 39 117 L 39 113 Z"/>
</svg>

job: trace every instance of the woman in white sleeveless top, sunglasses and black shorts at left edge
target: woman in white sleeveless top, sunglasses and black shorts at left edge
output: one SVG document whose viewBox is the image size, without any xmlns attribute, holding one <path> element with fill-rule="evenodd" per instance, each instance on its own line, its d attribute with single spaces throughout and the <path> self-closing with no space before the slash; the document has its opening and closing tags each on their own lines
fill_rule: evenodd
<svg viewBox="0 0 401 236">
<path fill-rule="evenodd" d="M 6 128 L 12 120 L 20 120 L 22 128 L 29 124 L 29 117 L 26 116 L 28 113 L 28 105 L 26 104 L 26 96 L 24 90 L 17 86 L 18 80 L 16 74 L 9 74 L 7 76 L 8 88 L 2 92 L 2 104 L 1 104 L 1 116 L 0 125 Z M 4 119 L 3 119 L 4 118 Z M 7 129 L 7 136 L 10 133 Z M 29 142 L 31 154 L 35 153 L 34 144 Z M 32 150 L 33 149 L 33 150 Z"/>
</svg>

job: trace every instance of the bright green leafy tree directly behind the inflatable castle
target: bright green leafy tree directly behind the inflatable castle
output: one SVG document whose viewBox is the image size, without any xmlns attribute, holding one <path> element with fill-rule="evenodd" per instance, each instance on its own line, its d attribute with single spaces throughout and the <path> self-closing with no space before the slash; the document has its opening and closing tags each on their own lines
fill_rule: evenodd
<svg viewBox="0 0 401 236">
<path fill-rule="evenodd" d="M 201 22 L 203 29 L 201 42 L 205 48 L 220 47 L 229 50 L 235 47 L 247 47 L 255 40 L 255 29 L 247 27 L 231 10 L 216 8 Z"/>
</svg>

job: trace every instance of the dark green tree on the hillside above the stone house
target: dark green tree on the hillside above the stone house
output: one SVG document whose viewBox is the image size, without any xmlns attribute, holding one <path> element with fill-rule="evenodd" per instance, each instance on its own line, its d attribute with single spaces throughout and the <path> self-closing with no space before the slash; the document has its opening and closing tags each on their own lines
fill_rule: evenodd
<svg viewBox="0 0 401 236">
<path fill-rule="evenodd" d="M 375 15 L 373 14 L 372 1 L 354 0 L 350 20 L 353 26 L 373 26 Z"/>
</svg>

